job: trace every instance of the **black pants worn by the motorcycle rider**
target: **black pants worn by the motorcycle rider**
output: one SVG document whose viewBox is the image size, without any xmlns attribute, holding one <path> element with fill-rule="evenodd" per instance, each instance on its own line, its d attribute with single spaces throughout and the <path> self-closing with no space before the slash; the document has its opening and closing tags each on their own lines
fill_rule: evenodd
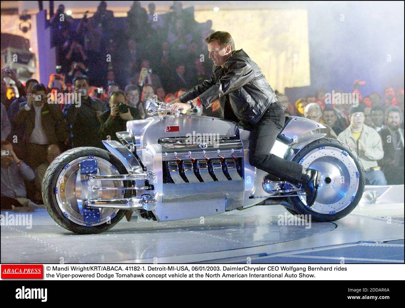
<svg viewBox="0 0 405 308">
<path fill-rule="evenodd" d="M 285 120 L 284 110 L 277 103 L 272 103 L 252 130 L 249 163 L 283 181 L 298 184 L 303 167 L 296 162 L 270 154 Z"/>
</svg>

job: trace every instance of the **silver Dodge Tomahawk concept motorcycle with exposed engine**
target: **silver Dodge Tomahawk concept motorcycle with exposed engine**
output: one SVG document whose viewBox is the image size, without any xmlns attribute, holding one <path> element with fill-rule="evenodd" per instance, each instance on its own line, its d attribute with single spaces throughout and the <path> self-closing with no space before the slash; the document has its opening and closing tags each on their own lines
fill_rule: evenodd
<svg viewBox="0 0 405 308">
<path fill-rule="evenodd" d="M 272 178 L 249 164 L 250 130 L 235 122 L 170 113 L 171 104 L 147 101 L 149 118 L 127 122 L 121 142 L 106 150 L 73 148 L 49 165 L 45 206 L 62 227 L 100 233 L 127 220 L 167 221 L 281 204 L 312 221 L 343 218 L 360 201 L 364 170 L 356 153 L 317 133 L 322 124 L 286 118 L 271 153 L 321 172 L 318 197 L 308 207 L 301 186 Z M 190 114 L 189 114 L 190 113 Z"/>
</svg>

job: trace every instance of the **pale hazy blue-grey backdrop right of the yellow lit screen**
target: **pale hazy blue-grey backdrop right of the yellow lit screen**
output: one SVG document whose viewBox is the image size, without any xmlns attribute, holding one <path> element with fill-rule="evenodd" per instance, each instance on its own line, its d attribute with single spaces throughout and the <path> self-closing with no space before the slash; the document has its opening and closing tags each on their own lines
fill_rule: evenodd
<svg viewBox="0 0 405 308">
<path fill-rule="evenodd" d="M 286 89 L 291 102 L 320 87 L 350 92 L 356 79 L 363 96 L 403 88 L 404 2 L 309 2 L 307 12 L 311 86 Z"/>
</svg>

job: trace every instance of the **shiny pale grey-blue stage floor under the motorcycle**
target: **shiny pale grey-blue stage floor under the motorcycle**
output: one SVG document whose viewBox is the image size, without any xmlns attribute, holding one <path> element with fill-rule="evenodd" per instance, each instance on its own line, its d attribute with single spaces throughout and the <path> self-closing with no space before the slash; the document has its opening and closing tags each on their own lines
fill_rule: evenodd
<svg viewBox="0 0 405 308">
<path fill-rule="evenodd" d="M 359 205 L 341 220 L 310 228 L 279 225 L 287 211 L 270 205 L 207 216 L 203 224 L 124 218 L 96 235 L 67 231 L 43 208 L 8 214 L 32 214 L 33 224 L 1 226 L 2 263 L 404 262 L 403 203 Z"/>
</svg>

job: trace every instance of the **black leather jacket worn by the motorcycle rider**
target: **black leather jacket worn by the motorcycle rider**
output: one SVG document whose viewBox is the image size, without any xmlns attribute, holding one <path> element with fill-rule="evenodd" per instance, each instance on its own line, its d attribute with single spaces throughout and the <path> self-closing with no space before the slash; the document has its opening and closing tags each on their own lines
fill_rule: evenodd
<svg viewBox="0 0 405 308">
<path fill-rule="evenodd" d="M 179 99 L 186 103 L 196 97 L 200 98 L 205 108 L 218 98 L 225 100 L 225 103 L 228 98 L 235 116 L 246 124 L 257 123 L 267 107 L 277 101 L 260 67 L 243 49 L 233 51 L 224 68 L 214 65 L 209 80 L 195 86 Z"/>
</svg>

